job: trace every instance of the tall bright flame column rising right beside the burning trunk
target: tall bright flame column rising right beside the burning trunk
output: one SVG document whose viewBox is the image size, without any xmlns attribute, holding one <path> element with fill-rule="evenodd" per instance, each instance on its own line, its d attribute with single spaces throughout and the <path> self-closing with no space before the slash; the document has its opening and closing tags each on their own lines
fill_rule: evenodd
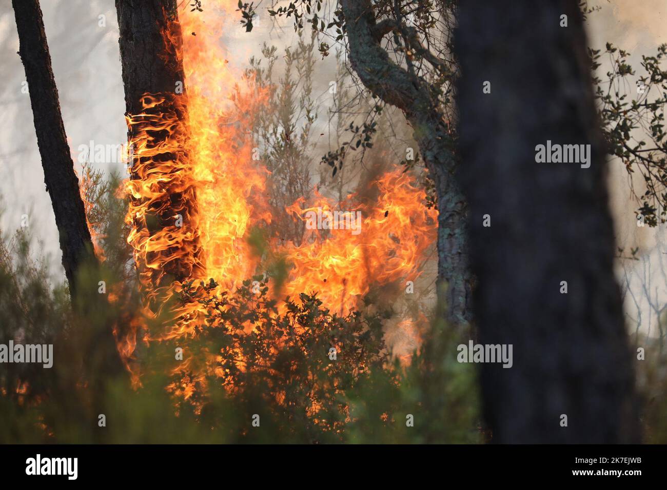
<svg viewBox="0 0 667 490">
<path fill-rule="evenodd" d="M 247 244 L 248 229 L 271 220 L 263 199 L 267 173 L 253 160 L 253 142 L 246 134 L 267 94 L 257 93 L 252 80 L 233 71 L 219 43 L 224 19 L 234 9 L 231 1 L 208 2 L 205 15 L 187 12 L 182 20 L 200 243 L 207 277 L 227 289 L 257 267 Z"/>
</svg>

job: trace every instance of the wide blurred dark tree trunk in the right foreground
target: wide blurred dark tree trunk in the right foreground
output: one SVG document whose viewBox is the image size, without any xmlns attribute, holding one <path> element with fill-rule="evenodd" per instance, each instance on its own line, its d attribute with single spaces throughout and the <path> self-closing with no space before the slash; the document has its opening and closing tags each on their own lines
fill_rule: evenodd
<svg viewBox="0 0 667 490">
<path fill-rule="evenodd" d="M 458 20 L 460 177 L 476 325 L 482 343 L 512 344 L 514 353 L 510 369 L 482 365 L 493 440 L 637 441 L 633 357 L 578 1 L 467 1 Z M 548 140 L 590 145 L 590 168 L 537 163 L 536 145 Z"/>
</svg>

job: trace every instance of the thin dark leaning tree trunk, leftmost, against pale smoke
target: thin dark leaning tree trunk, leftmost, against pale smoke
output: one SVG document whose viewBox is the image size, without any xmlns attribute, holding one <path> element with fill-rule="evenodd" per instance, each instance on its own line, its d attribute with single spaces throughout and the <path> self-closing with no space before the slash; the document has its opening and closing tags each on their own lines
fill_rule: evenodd
<svg viewBox="0 0 667 490">
<path fill-rule="evenodd" d="M 77 271 L 88 261 L 95 263 L 93 243 L 79 193 L 79 179 L 67 145 L 39 1 L 12 0 L 12 5 L 44 182 L 53 205 L 69 291 L 74 295 Z"/>
</svg>

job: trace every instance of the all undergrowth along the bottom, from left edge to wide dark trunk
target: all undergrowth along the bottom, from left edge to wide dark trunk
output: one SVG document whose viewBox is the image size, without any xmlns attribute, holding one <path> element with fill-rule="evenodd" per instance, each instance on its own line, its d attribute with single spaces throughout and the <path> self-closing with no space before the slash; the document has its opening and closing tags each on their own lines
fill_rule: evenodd
<svg viewBox="0 0 667 490">
<path fill-rule="evenodd" d="M 87 199 L 98 208 L 91 226 L 107 232 L 107 257 L 125 257 L 111 225 L 92 223 L 95 216 L 111 217 L 119 226 L 113 209 L 124 204 L 115 196 L 117 185 L 89 177 Z M 261 238 L 255 241 L 261 247 Z M 372 311 L 367 301 L 368 311 L 340 317 L 316 295 L 277 301 L 260 277 L 233 293 L 214 280 L 185 285 L 171 300 L 199 303 L 201 321 L 188 337 L 143 345 L 139 335 L 131 365 L 141 373 L 141 386 L 133 388 L 114 363 L 115 349 L 110 355 L 103 346 L 112 330 L 122 334 L 141 318 L 135 278 L 123 267 L 89 267 L 79 273 L 79 293 L 70 302 L 64 283 L 49 284 L 29 242 L 21 231 L 0 245 L 0 341 L 53 343 L 54 361 L 51 369 L 3 365 L 0 443 L 479 440 L 474 371 L 452 362 L 456 340 L 443 325 L 402 366 L 384 342 L 390 312 Z M 98 293 L 100 279 L 115 301 Z M 149 331 L 169 325 L 168 315 L 144 321 Z M 176 347 L 184 349 L 183 361 Z M 409 413 L 414 427 L 406 426 Z M 252 425 L 255 414 L 259 427 Z"/>
</svg>

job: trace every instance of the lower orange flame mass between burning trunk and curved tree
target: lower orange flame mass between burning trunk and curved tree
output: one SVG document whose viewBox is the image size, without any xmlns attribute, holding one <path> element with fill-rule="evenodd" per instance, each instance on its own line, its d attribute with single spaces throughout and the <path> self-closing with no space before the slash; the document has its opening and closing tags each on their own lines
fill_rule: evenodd
<svg viewBox="0 0 667 490">
<path fill-rule="evenodd" d="M 360 229 L 335 229 L 325 239 L 321 230 L 307 229 L 303 244 L 286 250 L 293 264 L 287 295 L 315 291 L 323 304 L 338 305 L 345 315 L 370 291 L 372 283 L 414 282 L 420 275 L 424 252 L 434 243 L 437 211 L 424 207 L 426 192 L 400 169 L 380 177 L 374 185 L 378 187 L 376 204 L 352 205 L 355 196 L 349 195 L 350 207 L 340 206 L 360 213 Z M 302 209 L 301 203 L 303 199 L 287 211 L 304 221 L 309 211 L 333 211 L 331 202 L 321 196 L 311 207 Z"/>
</svg>

